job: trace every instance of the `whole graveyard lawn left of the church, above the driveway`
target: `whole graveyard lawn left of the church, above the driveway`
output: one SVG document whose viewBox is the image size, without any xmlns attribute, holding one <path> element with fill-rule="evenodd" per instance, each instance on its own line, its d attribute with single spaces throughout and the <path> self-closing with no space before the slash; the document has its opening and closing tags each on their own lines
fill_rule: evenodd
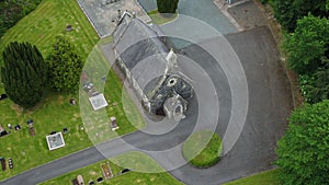
<svg viewBox="0 0 329 185">
<path fill-rule="evenodd" d="M 73 30 L 66 32 L 67 24 L 72 25 Z M 55 36 L 65 34 L 77 46 L 78 51 L 83 59 L 87 59 L 93 46 L 99 38 L 87 18 L 80 10 L 76 1 L 72 0 L 44 0 L 35 11 L 22 19 L 15 26 L 10 28 L 0 39 L 0 51 L 10 42 L 30 42 L 36 45 L 44 57 L 49 53 L 52 41 Z M 95 55 L 100 55 L 97 53 Z M 2 57 L 2 56 L 1 56 Z M 0 57 L 0 66 L 2 66 L 2 58 Z M 102 56 L 98 56 L 103 58 Z M 102 62 L 106 62 L 102 60 Z M 109 72 L 105 84 L 106 99 L 111 99 L 110 103 L 117 102 L 118 106 L 106 107 L 109 115 L 116 116 L 118 125 L 121 126 L 118 135 L 135 131 L 137 128 L 132 126 L 125 117 L 125 113 L 121 105 L 122 82 L 114 74 Z M 0 83 L 0 94 L 4 93 L 4 86 Z M 71 105 L 71 99 L 77 100 L 77 105 Z M 132 104 L 132 112 L 138 117 L 139 126 L 144 126 L 143 118 L 138 114 L 137 108 Z M 27 119 L 33 119 L 34 134 L 32 136 L 26 125 Z M 109 117 L 110 122 L 110 117 Z M 21 130 L 9 130 L 10 134 L 0 138 L 1 155 L 8 160 L 13 160 L 14 169 L 7 170 L 0 173 L 0 181 L 19 174 L 29 169 L 70 154 L 72 152 L 86 149 L 92 146 L 89 136 L 86 134 L 83 127 L 78 94 L 63 94 L 46 92 L 42 103 L 33 109 L 22 111 L 19 106 L 13 104 L 9 99 L 0 101 L 0 124 L 7 129 L 7 125 L 11 124 L 21 126 Z M 46 136 L 50 131 L 63 131 L 66 146 L 54 151 L 49 151 L 46 142 Z M 111 138 L 102 138 L 111 139 Z M 99 140 L 99 141 L 102 141 Z"/>
</svg>

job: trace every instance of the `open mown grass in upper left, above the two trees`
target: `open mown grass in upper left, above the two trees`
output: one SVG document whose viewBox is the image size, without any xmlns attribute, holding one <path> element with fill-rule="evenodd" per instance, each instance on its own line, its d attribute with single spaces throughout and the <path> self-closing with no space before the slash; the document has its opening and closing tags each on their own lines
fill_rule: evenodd
<svg viewBox="0 0 329 185">
<path fill-rule="evenodd" d="M 73 31 L 66 32 L 66 25 Z M 23 18 L 0 38 L 0 51 L 13 41 L 30 42 L 38 47 L 44 57 L 57 35 L 66 35 L 87 58 L 99 37 L 78 3 L 72 0 L 44 0 L 32 13 Z M 2 56 L 0 57 L 2 58 Z"/>
</svg>

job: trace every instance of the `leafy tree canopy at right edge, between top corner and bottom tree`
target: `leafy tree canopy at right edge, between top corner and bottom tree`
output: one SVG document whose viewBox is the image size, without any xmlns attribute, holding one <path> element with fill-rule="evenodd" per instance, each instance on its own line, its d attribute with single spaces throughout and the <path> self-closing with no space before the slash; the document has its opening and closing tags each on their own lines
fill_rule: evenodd
<svg viewBox="0 0 329 185">
<path fill-rule="evenodd" d="M 329 99 L 329 20 L 311 14 L 297 21 L 295 33 L 283 42 L 291 69 L 308 103 Z"/>
</svg>

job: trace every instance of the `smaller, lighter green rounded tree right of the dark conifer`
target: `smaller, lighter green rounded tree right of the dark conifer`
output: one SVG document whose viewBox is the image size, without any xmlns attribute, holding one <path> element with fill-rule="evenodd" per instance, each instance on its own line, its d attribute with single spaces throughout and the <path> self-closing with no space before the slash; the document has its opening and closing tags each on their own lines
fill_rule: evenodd
<svg viewBox="0 0 329 185">
<path fill-rule="evenodd" d="M 70 92 L 78 89 L 83 61 L 68 39 L 64 36 L 55 38 L 47 61 L 50 85 L 55 90 Z"/>
</svg>

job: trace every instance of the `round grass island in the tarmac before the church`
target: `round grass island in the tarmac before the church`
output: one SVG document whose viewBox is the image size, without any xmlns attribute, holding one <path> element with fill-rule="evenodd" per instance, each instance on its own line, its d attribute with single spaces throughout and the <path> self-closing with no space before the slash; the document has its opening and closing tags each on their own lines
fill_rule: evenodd
<svg viewBox="0 0 329 185">
<path fill-rule="evenodd" d="M 193 134 L 183 144 L 184 158 L 196 167 L 209 167 L 216 164 L 222 150 L 220 138 L 217 134 L 208 130 Z"/>
</svg>

